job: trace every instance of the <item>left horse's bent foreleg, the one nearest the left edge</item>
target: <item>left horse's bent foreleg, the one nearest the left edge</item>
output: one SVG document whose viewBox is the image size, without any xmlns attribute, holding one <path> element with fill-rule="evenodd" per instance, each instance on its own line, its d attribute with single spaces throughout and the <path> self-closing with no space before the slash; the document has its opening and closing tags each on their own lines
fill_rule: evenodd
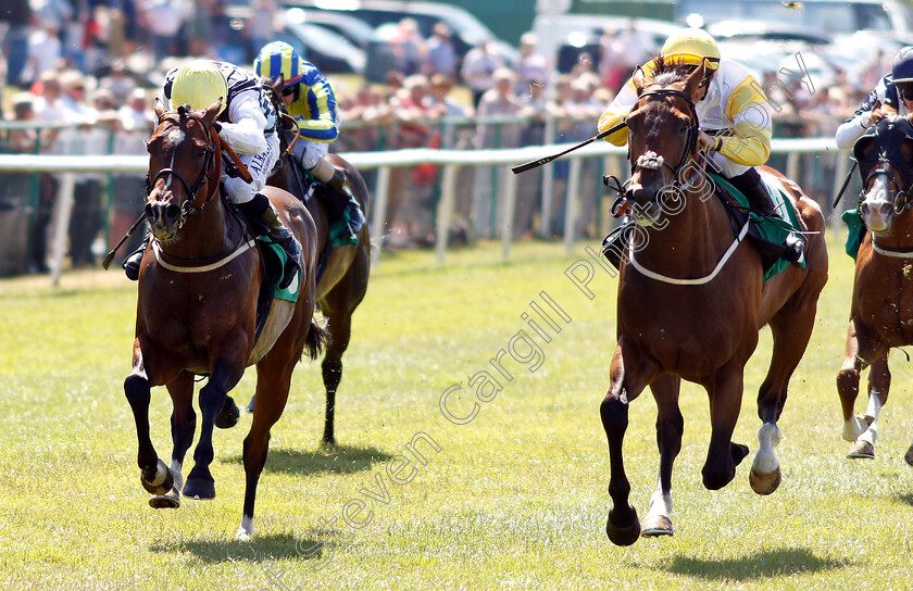
<svg viewBox="0 0 913 591">
<path fill-rule="evenodd" d="M 159 460 L 152 439 L 149 437 L 149 402 L 152 399 L 149 378 L 141 349 L 141 339 L 134 341 L 134 368 L 124 380 L 124 394 L 130 405 L 136 423 L 137 465 L 140 469 L 140 482 L 150 494 L 165 494 L 174 485 L 174 478 Z"/>
</svg>

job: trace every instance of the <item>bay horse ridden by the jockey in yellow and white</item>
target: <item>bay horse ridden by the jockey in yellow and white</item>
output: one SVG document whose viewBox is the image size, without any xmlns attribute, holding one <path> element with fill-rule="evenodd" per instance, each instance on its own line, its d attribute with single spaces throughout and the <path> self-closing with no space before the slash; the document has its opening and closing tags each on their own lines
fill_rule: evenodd
<svg viewBox="0 0 913 591">
<path fill-rule="evenodd" d="M 703 93 L 705 64 L 658 61 L 652 81 L 634 75 L 638 99 L 627 115 L 630 184 L 625 192 L 637 222 L 623 257 L 617 294 L 617 345 L 611 385 L 600 405 L 609 441 L 612 504 L 605 531 L 618 545 L 643 536 L 673 535 L 672 468 L 681 449 L 680 380 L 703 386 L 710 399 L 711 438 L 701 470 L 703 485 L 717 490 L 736 476 L 748 447 L 731 441 L 739 416 L 745 365 L 759 330 L 771 326 L 773 359 L 758 393 L 763 426 L 749 481 L 770 494 L 780 481 L 774 447 L 787 386 L 801 360 L 827 280 L 824 216 L 801 189 L 771 168 L 795 202 L 804 230 L 806 266 L 789 265 L 764 282 L 762 257 L 734 232 L 724 204 L 706 192 L 699 162 L 696 102 Z M 652 227 L 650 225 L 652 224 Z M 815 234 L 817 232 L 817 234 Z M 636 250 L 636 252 L 635 252 Z M 628 502 L 622 444 L 628 405 L 650 387 L 658 406 L 659 479 L 641 527 Z"/>
</svg>

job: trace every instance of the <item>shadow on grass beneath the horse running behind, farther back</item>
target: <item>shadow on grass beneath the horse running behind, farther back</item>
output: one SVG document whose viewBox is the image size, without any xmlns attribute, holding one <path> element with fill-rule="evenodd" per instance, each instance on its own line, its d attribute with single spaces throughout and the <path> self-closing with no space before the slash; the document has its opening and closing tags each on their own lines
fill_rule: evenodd
<svg viewBox="0 0 913 591">
<path fill-rule="evenodd" d="M 375 464 L 387 462 L 392 454 L 373 447 L 335 445 L 314 451 L 271 449 L 266 456 L 265 471 L 314 475 L 354 474 L 370 470 Z M 236 455 L 232 462 L 242 463 Z"/>
</svg>

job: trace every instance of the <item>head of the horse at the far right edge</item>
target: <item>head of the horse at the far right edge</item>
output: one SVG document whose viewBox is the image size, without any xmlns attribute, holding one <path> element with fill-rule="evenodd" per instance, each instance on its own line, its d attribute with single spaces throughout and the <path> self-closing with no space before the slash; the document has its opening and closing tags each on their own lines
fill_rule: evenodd
<svg viewBox="0 0 913 591">
<path fill-rule="evenodd" d="M 873 232 L 885 232 L 910 206 L 913 183 L 913 125 L 905 117 L 886 115 L 853 147 L 863 189 L 859 213 Z"/>
</svg>

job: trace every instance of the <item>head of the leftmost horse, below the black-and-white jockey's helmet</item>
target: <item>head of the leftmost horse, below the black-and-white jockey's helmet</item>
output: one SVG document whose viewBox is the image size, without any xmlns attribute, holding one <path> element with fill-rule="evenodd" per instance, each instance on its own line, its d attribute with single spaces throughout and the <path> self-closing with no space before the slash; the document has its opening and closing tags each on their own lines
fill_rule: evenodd
<svg viewBox="0 0 913 591">
<path fill-rule="evenodd" d="M 187 216 L 202 210 L 218 192 L 222 150 L 213 123 L 221 106 L 220 99 L 207 110 L 182 105 L 165 111 L 164 104 L 155 101 L 159 125 L 146 142 L 146 219 L 161 242 L 173 241 Z"/>
</svg>

